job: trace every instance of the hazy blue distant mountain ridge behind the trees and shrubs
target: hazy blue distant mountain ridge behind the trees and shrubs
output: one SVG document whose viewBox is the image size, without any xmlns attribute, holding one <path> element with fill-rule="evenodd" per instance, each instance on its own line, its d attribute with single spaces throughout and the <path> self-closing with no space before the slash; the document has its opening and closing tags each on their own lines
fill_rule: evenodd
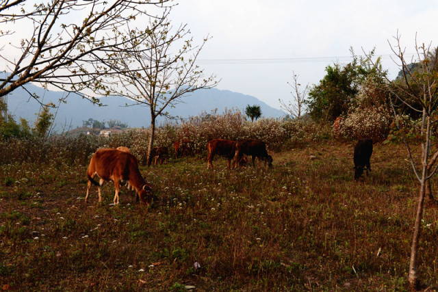
<svg viewBox="0 0 438 292">
<path fill-rule="evenodd" d="M 40 96 L 42 103 L 55 103 L 59 105 L 59 99 L 65 95 L 64 92 L 46 91 L 36 85 L 27 84 L 26 89 Z M 72 129 L 81 127 L 84 120 L 93 118 L 94 120 L 120 120 L 129 125 L 129 127 L 149 127 L 151 115 L 149 109 L 144 106 L 131 105 L 133 102 L 128 98 L 119 96 L 108 96 L 101 98 L 101 102 L 105 104 L 104 107 L 92 105 L 90 101 L 81 98 L 75 94 L 70 94 L 66 99 L 67 103 L 61 103 L 57 110 L 55 118 L 55 131 L 62 131 L 63 127 L 71 125 Z M 244 110 L 246 105 L 260 105 L 262 116 L 279 118 L 285 116 L 285 113 L 279 109 L 274 109 L 266 103 L 259 101 L 254 96 L 231 92 L 229 90 L 218 90 L 213 88 L 211 90 L 197 90 L 188 96 L 182 98 L 182 103 L 179 103 L 174 108 L 168 108 L 168 112 L 172 116 L 179 116 L 180 118 L 188 118 L 189 116 L 197 116 L 203 111 L 209 113 L 214 109 L 218 109 L 218 113 L 222 113 L 225 108 L 237 108 Z M 8 111 L 14 115 L 16 120 L 18 118 L 25 118 L 29 122 L 36 120 L 36 114 L 40 109 L 40 104 L 29 98 L 29 94 L 18 88 L 8 95 Z M 54 114 L 55 109 L 51 112 Z M 164 122 L 164 118 L 159 118 L 158 122 Z"/>
</svg>

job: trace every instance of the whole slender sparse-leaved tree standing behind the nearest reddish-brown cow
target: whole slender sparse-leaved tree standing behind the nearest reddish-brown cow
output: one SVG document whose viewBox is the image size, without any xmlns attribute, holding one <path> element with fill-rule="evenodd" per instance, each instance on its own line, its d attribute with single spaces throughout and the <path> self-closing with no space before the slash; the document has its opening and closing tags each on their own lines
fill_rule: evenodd
<svg viewBox="0 0 438 292">
<path fill-rule="evenodd" d="M 205 77 L 196 65 L 201 45 L 194 46 L 186 25 L 172 27 L 168 21 L 170 9 L 162 17 L 150 18 L 144 31 L 132 29 L 122 49 L 114 53 L 116 61 L 110 62 L 118 83 L 111 86 L 112 94 L 125 96 L 135 103 L 145 105 L 151 114 L 151 135 L 147 164 L 151 155 L 158 116 L 172 118 L 168 107 L 175 107 L 186 94 L 216 86 L 215 77 Z"/>
</svg>

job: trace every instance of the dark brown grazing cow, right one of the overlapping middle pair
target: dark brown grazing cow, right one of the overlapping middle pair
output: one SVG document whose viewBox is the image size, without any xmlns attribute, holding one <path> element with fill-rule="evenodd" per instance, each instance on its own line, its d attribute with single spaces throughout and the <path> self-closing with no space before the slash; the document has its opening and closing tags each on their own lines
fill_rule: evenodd
<svg viewBox="0 0 438 292">
<path fill-rule="evenodd" d="M 242 139 L 235 143 L 235 149 L 233 168 L 237 168 L 237 161 L 240 161 L 244 154 L 252 155 L 253 166 L 255 166 L 255 158 L 258 157 L 259 160 L 265 161 L 272 168 L 272 156 L 268 155 L 265 142 L 255 139 Z"/>
</svg>

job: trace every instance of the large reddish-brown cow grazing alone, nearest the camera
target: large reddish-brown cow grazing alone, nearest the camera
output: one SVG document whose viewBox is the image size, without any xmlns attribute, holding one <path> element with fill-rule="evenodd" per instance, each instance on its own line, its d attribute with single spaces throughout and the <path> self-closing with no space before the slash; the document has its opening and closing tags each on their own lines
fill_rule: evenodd
<svg viewBox="0 0 438 292">
<path fill-rule="evenodd" d="M 99 183 L 94 181 L 94 176 L 99 176 Z M 114 195 L 114 204 L 118 204 L 118 193 L 120 183 L 128 182 L 136 189 L 140 200 L 144 204 L 151 202 L 151 186 L 144 181 L 144 178 L 138 170 L 136 157 L 129 152 L 123 152 L 117 149 L 100 149 L 97 150 L 91 158 L 87 170 L 88 185 L 85 202 L 88 200 L 88 194 L 91 184 L 97 185 L 99 190 L 99 202 L 102 201 L 101 187 L 104 181 L 114 181 L 116 194 Z"/>
</svg>

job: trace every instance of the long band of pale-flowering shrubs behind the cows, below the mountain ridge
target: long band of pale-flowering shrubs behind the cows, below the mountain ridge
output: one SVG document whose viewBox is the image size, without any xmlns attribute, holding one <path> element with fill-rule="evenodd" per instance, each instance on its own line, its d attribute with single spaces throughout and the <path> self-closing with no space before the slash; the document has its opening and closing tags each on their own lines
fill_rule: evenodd
<svg viewBox="0 0 438 292">
<path fill-rule="evenodd" d="M 190 155 L 207 155 L 207 142 L 212 139 L 259 139 L 268 151 L 302 147 L 307 143 L 329 137 L 324 127 L 311 120 L 281 120 L 262 118 L 252 123 L 244 119 L 241 111 L 227 109 L 223 114 L 202 114 L 184 120 L 181 124 L 164 124 L 155 131 L 154 146 L 166 146 L 172 152 L 177 140 L 188 140 Z M 51 163 L 55 165 L 87 165 L 99 148 L 128 147 L 140 164 L 146 163 L 149 146 L 149 129 L 123 131 L 101 137 L 79 135 L 65 137 L 5 137 L 0 136 L 0 164 Z"/>
</svg>

